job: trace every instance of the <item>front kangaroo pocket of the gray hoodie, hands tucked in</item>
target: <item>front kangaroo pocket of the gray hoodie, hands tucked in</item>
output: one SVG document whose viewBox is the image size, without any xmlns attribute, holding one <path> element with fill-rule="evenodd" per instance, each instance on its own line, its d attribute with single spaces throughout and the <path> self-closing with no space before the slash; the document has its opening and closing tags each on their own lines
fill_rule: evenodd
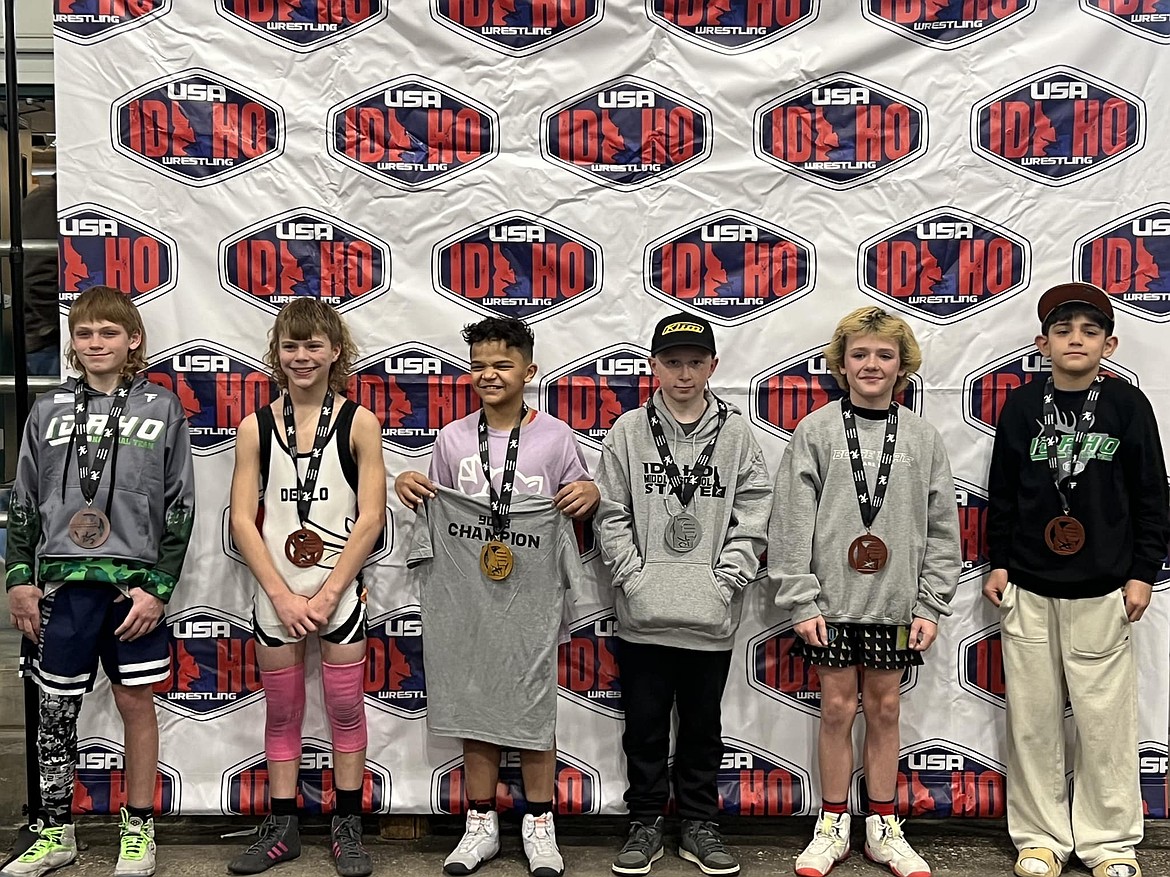
<svg viewBox="0 0 1170 877">
<path fill-rule="evenodd" d="M 651 561 L 622 591 L 618 621 L 631 631 L 683 628 L 711 637 L 731 634 L 730 601 L 706 564 Z"/>
</svg>

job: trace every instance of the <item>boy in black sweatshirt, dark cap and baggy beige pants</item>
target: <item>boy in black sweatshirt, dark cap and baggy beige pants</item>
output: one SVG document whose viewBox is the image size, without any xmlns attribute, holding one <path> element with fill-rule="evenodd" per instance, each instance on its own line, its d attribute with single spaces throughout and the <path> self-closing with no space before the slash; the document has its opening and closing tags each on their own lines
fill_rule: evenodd
<svg viewBox="0 0 1170 877">
<path fill-rule="evenodd" d="M 1007 829 L 1020 877 L 1075 852 L 1094 877 L 1140 877 L 1137 677 L 1130 624 L 1166 554 L 1166 470 L 1149 400 L 1101 374 L 1113 304 L 1088 283 L 1040 298 L 1052 375 L 1013 391 L 996 427 L 983 594 L 1000 609 Z M 1076 723 L 1069 812 L 1066 695 Z"/>
</svg>

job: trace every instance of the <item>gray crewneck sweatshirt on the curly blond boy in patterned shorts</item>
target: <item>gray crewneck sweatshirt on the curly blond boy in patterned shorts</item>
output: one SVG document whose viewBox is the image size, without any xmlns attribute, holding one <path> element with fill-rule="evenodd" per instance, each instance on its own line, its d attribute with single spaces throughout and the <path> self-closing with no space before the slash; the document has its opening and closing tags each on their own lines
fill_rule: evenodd
<svg viewBox="0 0 1170 877">
<path fill-rule="evenodd" d="M 873 496 L 885 420 L 858 416 L 866 481 Z M 897 412 L 897 443 L 886 500 L 872 532 L 889 548 L 886 566 L 862 575 L 848 564 L 865 533 L 841 406 L 800 421 L 776 476 L 768 533 L 768 575 L 776 605 L 792 621 L 909 624 L 950 615 L 962 572 L 955 482 L 942 436 L 908 408 Z"/>
</svg>

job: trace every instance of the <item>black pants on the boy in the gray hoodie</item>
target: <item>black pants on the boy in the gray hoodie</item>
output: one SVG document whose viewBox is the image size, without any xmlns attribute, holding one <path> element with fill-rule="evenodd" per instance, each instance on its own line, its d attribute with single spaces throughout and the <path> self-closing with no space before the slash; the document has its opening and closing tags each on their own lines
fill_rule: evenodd
<svg viewBox="0 0 1170 877">
<path fill-rule="evenodd" d="M 730 651 L 642 645 L 619 640 L 621 704 L 626 730 L 626 806 L 629 819 L 653 822 L 669 797 L 667 758 L 670 712 L 679 706 L 674 747 L 674 792 L 679 816 L 714 820 L 723 760 L 721 702 L 731 669 Z"/>
</svg>

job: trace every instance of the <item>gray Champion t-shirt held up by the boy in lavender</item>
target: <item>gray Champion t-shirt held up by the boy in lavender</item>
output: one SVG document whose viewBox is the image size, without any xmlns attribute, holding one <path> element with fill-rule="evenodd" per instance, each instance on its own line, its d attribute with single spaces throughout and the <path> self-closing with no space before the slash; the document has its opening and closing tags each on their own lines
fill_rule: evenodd
<svg viewBox="0 0 1170 877">
<path fill-rule="evenodd" d="M 491 538 L 487 497 L 439 486 L 411 531 L 408 567 L 424 565 L 422 661 L 427 726 L 440 737 L 551 750 L 557 721 L 557 634 L 565 589 L 580 585 L 572 522 L 550 497 L 512 497 L 503 581 L 480 571 Z"/>
</svg>

